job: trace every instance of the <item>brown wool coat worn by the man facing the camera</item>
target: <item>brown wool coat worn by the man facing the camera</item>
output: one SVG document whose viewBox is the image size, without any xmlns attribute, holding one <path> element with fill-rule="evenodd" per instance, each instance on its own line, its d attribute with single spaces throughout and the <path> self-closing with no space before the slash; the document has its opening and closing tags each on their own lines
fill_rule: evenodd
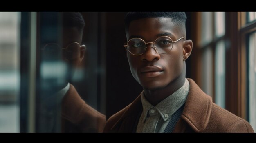
<svg viewBox="0 0 256 143">
<path fill-rule="evenodd" d="M 193 81 L 180 120 L 173 132 L 254 132 L 244 119 L 212 102 Z M 110 117 L 104 132 L 134 132 L 142 110 L 141 94 L 130 105 Z"/>
</svg>

